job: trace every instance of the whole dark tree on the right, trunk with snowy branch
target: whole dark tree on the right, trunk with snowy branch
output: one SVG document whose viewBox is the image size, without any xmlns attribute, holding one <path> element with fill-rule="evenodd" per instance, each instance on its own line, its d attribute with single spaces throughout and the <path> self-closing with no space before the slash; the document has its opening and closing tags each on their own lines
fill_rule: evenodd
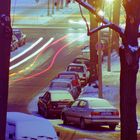
<svg viewBox="0 0 140 140">
<path fill-rule="evenodd" d="M 138 37 L 140 37 L 140 0 L 123 0 L 126 12 L 126 26 L 122 29 L 100 16 L 97 9 L 86 1 L 76 0 L 80 5 L 88 9 L 103 25 L 92 29 L 89 35 L 103 29 L 111 28 L 122 39 L 120 48 L 120 112 L 121 112 L 121 140 L 137 140 L 136 118 L 136 81 L 139 69 Z"/>
</svg>

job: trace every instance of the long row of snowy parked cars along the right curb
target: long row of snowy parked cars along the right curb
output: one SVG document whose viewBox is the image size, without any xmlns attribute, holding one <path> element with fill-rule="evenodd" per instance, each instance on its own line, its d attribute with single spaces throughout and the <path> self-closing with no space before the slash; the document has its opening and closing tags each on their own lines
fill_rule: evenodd
<svg viewBox="0 0 140 140">
<path fill-rule="evenodd" d="M 38 112 L 47 118 L 61 118 L 63 123 L 109 125 L 115 130 L 119 111 L 107 100 L 98 98 L 98 84 L 88 84 L 90 61 L 76 58 L 66 71 L 51 80 L 45 94 L 39 97 Z"/>
</svg>

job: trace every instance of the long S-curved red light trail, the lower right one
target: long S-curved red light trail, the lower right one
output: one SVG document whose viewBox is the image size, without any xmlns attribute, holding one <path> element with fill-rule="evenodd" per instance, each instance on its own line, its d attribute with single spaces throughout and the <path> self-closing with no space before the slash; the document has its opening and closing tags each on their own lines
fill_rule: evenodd
<svg viewBox="0 0 140 140">
<path fill-rule="evenodd" d="M 49 65 L 45 70 L 43 70 L 43 71 L 41 71 L 41 72 L 39 72 L 39 73 L 36 73 L 36 74 L 34 74 L 34 75 L 31 75 L 31 76 L 28 76 L 28 77 L 22 77 L 22 78 L 20 78 L 20 79 L 13 80 L 13 81 L 20 81 L 20 80 L 25 80 L 25 79 L 31 79 L 31 78 L 33 78 L 33 77 L 39 76 L 39 75 L 41 75 L 41 74 L 47 72 L 48 70 L 50 70 L 50 69 L 52 68 L 53 64 L 55 63 L 56 57 L 59 55 L 59 53 L 60 53 L 64 48 L 68 47 L 69 45 L 71 45 L 71 44 L 74 43 L 75 41 L 81 39 L 81 37 L 83 37 L 83 36 L 84 36 L 84 35 L 81 35 L 81 36 L 78 37 L 77 39 L 74 39 L 73 41 L 67 43 L 67 44 L 64 45 L 62 48 L 60 48 L 60 49 L 56 52 L 56 54 L 54 55 L 54 57 L 52 58 L 52 61 L 50 62 L 50 65 Z"/>
</svg>

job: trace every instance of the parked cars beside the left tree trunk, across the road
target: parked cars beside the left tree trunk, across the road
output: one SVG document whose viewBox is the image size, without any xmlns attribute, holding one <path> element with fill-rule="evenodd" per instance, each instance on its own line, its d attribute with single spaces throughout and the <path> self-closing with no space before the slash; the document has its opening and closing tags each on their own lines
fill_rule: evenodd
<svg viewBox="0 0 140 140">
<path fill-rule="evenodd" d="M 18 28 L 13 28 L 12 31 L 11 51 L 14 51 L 26 43 L 26 34 L 23 34 Z"/>
</svg>

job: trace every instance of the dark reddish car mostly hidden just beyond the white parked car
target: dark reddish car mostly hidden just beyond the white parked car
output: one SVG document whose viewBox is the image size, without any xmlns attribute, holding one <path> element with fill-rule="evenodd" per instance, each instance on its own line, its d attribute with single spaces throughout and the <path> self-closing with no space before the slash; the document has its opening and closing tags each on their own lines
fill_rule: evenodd
<svg viewBox="0 0 140 140">
<path fill-rule="evenodd" d="M 73 63 L 77 63 L 77 64 L 85 64 L 88 68 L 88 70 L 90 70 L 90 60 L 84 57 L 77 57 L 73 60 Z"/>
</svg>

